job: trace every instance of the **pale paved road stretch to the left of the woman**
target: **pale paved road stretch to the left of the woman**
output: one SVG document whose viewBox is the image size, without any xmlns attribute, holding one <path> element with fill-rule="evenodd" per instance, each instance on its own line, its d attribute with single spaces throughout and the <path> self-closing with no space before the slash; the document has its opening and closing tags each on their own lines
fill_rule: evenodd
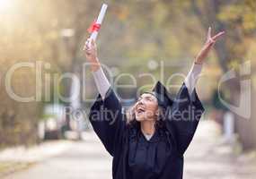
<svg viewBox="0 0 256 179">
<path fill-rule="evenodd" d="M 110 179 L 111 158 L 93 132 L 68 151 L 4 179 Z"/>
</svg>

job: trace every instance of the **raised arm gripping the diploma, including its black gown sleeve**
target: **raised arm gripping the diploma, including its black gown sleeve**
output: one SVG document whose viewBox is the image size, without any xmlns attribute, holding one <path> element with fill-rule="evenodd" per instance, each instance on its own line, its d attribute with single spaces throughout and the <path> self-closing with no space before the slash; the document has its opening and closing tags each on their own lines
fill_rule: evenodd
<svg viewBox="0 0 256 179">
<path fill-rule="evenodd" d="M 124 117 L 121 113 L 122 107 L 115 92 L 110 87 L 110 82 L 102 71 L 101 64 L 97 57 L 96 44 L 88 39 L 84 46 L 85 55 L 91 64 L 94 81 L 100 95 L 91 107 L 89 119 L 110 155 L 114 156 L 119 150 L 120 142 L 125 128 Z"/>
</svg>

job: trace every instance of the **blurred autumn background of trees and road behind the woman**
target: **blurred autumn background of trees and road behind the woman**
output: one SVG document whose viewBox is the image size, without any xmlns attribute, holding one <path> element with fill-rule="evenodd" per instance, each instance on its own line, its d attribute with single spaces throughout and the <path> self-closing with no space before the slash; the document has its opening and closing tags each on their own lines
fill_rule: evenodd
<svg viewBox="0 0 256 179">
<path fill-rule="evenodd" d="M 131 83 L 130 78 L 121 78 L 123 72 L 137 80 L 137 87 L 116 89 L 123 99 L 151 84 L 152 79 L 139 78 L 141 72 L 162 81 L 175 72 L 185 75 L 208 27 L 213 33 L 225 30 L 198 83 L 207 110 L 188 151 L 184 175 L 255 178 L 254 0 L 0 0 L 0 176 L 110 177 L 110 158 L 93 135 L 86 114 L 78 114 L 79 120 L 70 115 L 74 109 L 88 111 L 97 94 L 90 71 L 84 72 L 82 48 L 102 3 L 109 9 L 97 39 L 99 58 L 112 77 L 119 78 L 119 85 Z M 13 66 L 24 62 L 33 65 L 17 68 L 6 80 Z M 234 77 L 224 80 L 227 72 Z M 75 74 L 78 85 L 58 79 L 65 73 Z M 175 85 L 169 88 L 173 94 L 182 80 L 173 77 Z M 82 88 L 79 82 L 84 81 Z M 243 88 L 245 83 L 249 88 Z M 21 98 L 37 98 L 14 100 L 6 85 Z M 72 94 L 78 98 L 71 98 Z M 245 94 L 250 96 L 244 102 Z M 133 101 L 122 102 L 128 107 Z"/>
</svg>

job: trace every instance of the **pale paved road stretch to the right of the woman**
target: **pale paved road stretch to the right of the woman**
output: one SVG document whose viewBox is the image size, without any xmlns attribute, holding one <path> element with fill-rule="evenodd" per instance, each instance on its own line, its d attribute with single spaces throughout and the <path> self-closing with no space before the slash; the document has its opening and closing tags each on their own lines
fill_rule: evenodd
<svg viewBox="0 0 256 179">
<path fill-rule="evenodd" d="M 255 157 L 235 156 L 233 148 L 221 144 L 218 126 L 203 121 L 185 155 L 184 178 L 255 179 Z"/>
</svg>

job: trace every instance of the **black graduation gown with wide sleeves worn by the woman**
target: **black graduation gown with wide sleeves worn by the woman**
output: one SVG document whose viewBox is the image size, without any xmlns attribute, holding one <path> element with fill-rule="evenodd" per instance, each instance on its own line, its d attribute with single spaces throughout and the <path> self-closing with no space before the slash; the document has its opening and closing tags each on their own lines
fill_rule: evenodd
<svg viewBox="0 0 256 179">
<path fill-rule="evenodd" d="M 119 99 L 111 88 L 104 100 L 98 96 L 89 119 L 113 157 L 113 179 L 182 178 L 183 154 L 193 138 L 204 107 L 196 90 L 190 96 L 183 83 L 171 111 L 172 115 L 164 120 L 165 130 L 157 129 L 150 141 L 146 141 L 139 127 L 126 123 Z M 187 112 L 182 113 L 184 111 Z"/>
</svg>

